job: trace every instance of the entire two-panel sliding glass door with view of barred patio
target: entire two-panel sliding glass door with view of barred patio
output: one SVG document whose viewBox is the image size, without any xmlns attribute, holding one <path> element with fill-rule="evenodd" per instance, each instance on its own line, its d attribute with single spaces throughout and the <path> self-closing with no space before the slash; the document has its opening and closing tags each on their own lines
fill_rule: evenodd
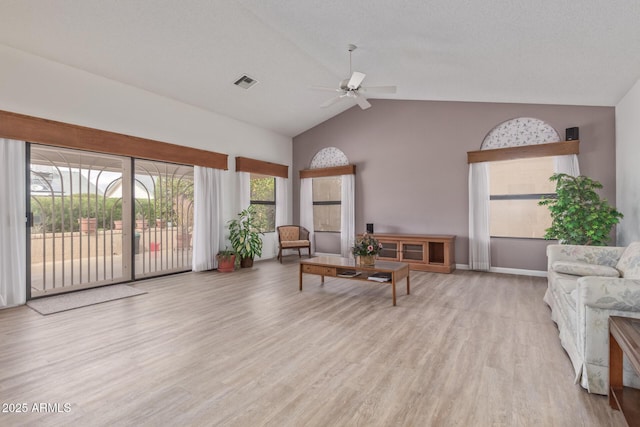
<svg viewBox="0 0 640 427">
<path fill-rule="evenodd" d="M 30 145 L 31 297 L 191 270 L 193 167 Z"/>
</svg>

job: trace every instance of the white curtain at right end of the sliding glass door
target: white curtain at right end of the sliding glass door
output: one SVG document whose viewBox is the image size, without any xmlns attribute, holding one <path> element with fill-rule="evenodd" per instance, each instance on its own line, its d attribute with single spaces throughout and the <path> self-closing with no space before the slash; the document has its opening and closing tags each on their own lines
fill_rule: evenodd
<svg viewBox="0 0 640 427">
<path fill-rule="evenodd" d="M 220 249 L 222 197 L 220 170 L 193 168 L 193 271 L 216 268 Z"/>
</svg>

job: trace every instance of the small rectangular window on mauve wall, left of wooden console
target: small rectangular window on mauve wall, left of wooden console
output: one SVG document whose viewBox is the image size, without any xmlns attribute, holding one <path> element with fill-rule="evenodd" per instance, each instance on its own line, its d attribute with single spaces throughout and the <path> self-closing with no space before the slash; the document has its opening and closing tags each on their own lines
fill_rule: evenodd
<svg viewBox="0 0 640 427">
<path fill-rule="evenodd" d="M 342 177 L 313 178 L 314 231 L 340 232 Z"/>
</svg>

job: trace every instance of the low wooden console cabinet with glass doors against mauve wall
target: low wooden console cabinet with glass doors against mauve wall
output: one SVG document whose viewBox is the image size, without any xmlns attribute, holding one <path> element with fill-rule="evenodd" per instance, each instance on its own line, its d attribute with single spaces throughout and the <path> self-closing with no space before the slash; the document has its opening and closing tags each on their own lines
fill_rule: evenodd
<svg viewBox="0 0 640 427">
<path fill-rule="evenodd" d="M 412 270 L 451 273 L 456 269 L 456 236 L 374 233 L 382 243 L 378 259 L 406 262 Z"/>
</svg>

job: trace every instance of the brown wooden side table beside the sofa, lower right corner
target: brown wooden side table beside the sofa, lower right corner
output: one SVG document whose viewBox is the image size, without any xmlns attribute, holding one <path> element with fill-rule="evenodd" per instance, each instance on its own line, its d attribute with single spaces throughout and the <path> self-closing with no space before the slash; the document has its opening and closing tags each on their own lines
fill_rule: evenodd
<svg viewBox="0 0 640 427">
<path fill-rule="evenodd" d="M 609 317 L 609 405 L 622 411 L 630 427 L 640 426 L 640 390 L 622 385 L 622 359 L 640 374 L 640 319 Z"/>
</svg>

